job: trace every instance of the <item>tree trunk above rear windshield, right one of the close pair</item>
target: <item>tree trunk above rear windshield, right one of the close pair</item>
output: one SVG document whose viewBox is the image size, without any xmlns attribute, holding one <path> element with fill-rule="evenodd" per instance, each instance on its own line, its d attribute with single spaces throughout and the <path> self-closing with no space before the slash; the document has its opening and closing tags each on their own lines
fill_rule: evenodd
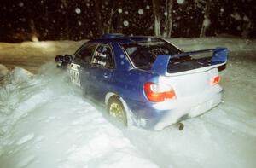
<svg viewBox="0 0 256 168">
<path fill-rule="evenodd" d="M 166 0 L 166 26 L 164 37 L 171 37 L 172 34 L 172 9 L 173 9 L 173 0 Z"/>
</svg>

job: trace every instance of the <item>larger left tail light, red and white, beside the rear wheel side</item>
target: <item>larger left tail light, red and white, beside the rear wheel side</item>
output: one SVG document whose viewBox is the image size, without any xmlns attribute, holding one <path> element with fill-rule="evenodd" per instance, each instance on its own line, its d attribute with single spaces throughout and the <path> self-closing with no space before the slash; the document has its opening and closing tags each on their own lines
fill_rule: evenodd
<svg viewBox="0 0 256 168">
<path fill-rule="evenodd" d="M 166 99 L 176 99 L 176 94 L 172 88 L 163 89 L 159 84 L 146 82 L 144 92 L 149 101 L 160 102 Z"/>
</svg>

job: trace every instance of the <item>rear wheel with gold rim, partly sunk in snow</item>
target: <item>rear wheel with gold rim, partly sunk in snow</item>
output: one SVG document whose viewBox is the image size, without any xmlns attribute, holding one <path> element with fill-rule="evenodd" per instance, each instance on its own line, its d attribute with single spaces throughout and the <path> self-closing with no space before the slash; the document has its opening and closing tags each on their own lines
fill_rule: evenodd
<svg viewBox="0 0 256 168">
<path fill-rule="evenodd" d="M 113 96 L 108 101 L 108 114 L 127 126 L 127 116 L 123 103 L 118 96 Z"/>
</svg>

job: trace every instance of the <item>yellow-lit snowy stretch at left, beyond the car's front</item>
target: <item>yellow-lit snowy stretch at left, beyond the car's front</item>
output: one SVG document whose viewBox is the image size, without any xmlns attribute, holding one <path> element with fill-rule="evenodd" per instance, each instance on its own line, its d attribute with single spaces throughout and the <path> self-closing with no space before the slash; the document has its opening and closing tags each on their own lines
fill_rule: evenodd
<svg viewBox="0 0 256 168">
<path fill-rule="evenodd" d="M 55 55 L 73 54 L 84 41 L 0 43 L 0 62 L 9 69 L 22 67 L 37 73 L 39 67 L 54 61 Z"/>
</svg>

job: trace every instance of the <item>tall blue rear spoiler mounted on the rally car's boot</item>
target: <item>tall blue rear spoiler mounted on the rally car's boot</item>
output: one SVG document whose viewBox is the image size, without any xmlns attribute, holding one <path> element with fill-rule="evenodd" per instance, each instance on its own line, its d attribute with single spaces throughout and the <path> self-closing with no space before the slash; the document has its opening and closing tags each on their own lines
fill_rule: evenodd
<svg viewBox="0 0 256 168">
<path fill-rule="evenodd" d="M 201 53 L 212 52 L 212 58 L 210 62 L 210 66 L 218 67 L 224 65 L 228 60 L 228 49 L 217 47 L 215 49 L 203 49 L 203 50 L 195 50 L 189 52 L 183 52 L 181 54 L 176 55 L 158 55 L 156 60 L 154 61 L 154 65 L 151 68 L 152 72 L 158 73 L 160 75 L 166 75 L 167 67 L 170 63 L 170 59 L 172 58 L 180 58 L 183 56 L 189 55 L 197 55 Z"/>
</svg>

